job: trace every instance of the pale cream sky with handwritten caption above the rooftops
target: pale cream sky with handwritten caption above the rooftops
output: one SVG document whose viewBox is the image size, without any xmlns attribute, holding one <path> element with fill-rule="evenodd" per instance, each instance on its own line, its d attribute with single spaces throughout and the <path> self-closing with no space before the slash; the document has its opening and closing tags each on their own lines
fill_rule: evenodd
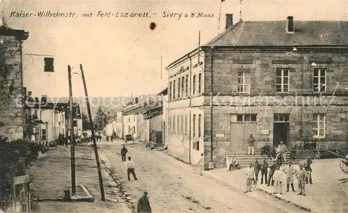
<svg viewBox="0 0 348 213">
<path fill-rule="evenodd" d="M 84 73 L 90 96 L 130 96 L 159 93 L 166 88 L 166 65 L 203 45 L 219 33 L 220 1 L 49 1 L 0 0 L 1 16 L 13 29 L 29 31 L 24 41 L 24 86 L 33 95 L 68 96 L 68 65 Z M 78 17 L 10 17 L 14 11 L 37 14 L 51 10 L 72 12 Z M 149 18 L 96 17 L 98 11 L 149 13 Z M 226 13 L 239 20 L 239 0 L 226 0 L 221 7 L 220 31 Z M 242 19 L 348 20 L 348 0 L 243 0 Z M 81 17 L 84 13 L 94 17 Z M 168 13 L 207 13 L 214 17 L 162 17 Z M 156 13 L 157 15 L 154 15 Z M 156 23 L 155 30 L 149 28 Z M 45 56 L 54 57 L 54 72 L 44 72 Z M 162 56 L 162 66 L 161 58 Z M 161 68 L 162 67 L 162 68 Z M 162 74 L 161 74 L 162 72 Z M 83 96 L 81 77 L 72 75 L 72 93 Z"/>
</svg>

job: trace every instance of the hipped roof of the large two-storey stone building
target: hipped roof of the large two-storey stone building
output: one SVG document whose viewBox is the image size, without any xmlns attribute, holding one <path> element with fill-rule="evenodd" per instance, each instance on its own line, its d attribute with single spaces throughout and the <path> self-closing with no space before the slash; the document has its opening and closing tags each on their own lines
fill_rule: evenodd
<svg viewBox="0 0 348 213">
<path fill-rule="evenodd" d="M 204 46 L 341 46 L 348 45 L 348 22 L 296 21 L 294 33 L 286 21 L 238 22 Z"/>
</svg>

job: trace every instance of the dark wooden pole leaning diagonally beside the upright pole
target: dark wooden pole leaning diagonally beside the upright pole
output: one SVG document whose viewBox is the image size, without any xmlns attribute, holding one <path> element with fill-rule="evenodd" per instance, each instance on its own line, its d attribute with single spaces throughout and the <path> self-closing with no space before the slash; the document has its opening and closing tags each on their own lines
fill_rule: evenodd
<svg viewBox="0 0 348 213">
<path fill-rule="evenodd" d="M 89 99 L 88 99 L 88 93 L 87 93 L 86 80 L 85 80 L 85 76 L 84 76 L 84 69 L 82 68 L 81 64 L 80 64 L 80 70 L 81 70 L 82 81 L 84 81 L 84 90 L 85 90 L 85 95 L 86 95 L 87 111 L 88 111 L 88 117 L 89 117 L 89 122 L 90 122 L 90 126 L 91 126 L 90 130 L 92 131 L 92 140 L 93 140 L 93 146 L 94 146 L 95 161 L 97 162 L 100 194 L 102 195 L 102 201 L 105 201 L 102 169 L 100 168 L 97 141 L 95 141 L 95 132 L 94 132 L 94 126 L 93 126 L 92 113 L 90 113 L 90 105 L 89 105 Z"/>
</svg>

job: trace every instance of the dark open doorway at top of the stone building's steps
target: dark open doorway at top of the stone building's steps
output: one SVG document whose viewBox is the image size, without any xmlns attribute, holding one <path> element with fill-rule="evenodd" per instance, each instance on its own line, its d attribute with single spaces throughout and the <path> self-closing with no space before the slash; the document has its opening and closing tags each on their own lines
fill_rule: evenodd
<svg viewBox="0 0 348 213">
<path fill-rule="evenodd" d="M 280 141 L 289 145 L 290 122 L 289 114 L 274 114 L 273 123 L 273 146 L 278 147 Z"/>
</svg>

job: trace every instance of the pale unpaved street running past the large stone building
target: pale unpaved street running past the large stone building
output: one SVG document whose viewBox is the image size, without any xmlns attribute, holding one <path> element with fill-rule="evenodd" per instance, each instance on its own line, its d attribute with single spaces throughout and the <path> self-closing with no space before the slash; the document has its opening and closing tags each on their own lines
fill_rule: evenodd
<svg viewBox="0 0 348 213">
<path fill-rule="evenodd" d="M 124 182 L 132 200 L 148 190 L 152 212 L 303 212 L 297 207 L 254 190 L 250 194 L 219 182 L 193 167 L 155 150 L 129 147 L 139 180 L 127 180 L 125 162 L 121 161 L 122 141 L 98 143 L 100 157 L 113 167 L 117 181 Z M 243 180 L 245 181 L 245 180 Z"/>
</svg>

